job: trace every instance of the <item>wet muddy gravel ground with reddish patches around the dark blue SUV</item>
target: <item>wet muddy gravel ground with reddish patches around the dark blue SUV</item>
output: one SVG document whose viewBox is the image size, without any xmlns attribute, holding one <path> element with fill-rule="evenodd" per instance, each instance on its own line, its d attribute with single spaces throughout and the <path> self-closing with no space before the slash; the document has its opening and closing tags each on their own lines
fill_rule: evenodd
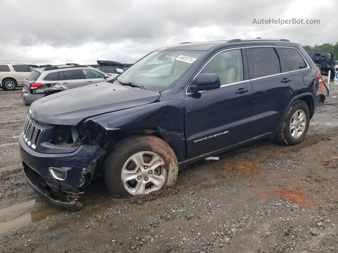
<svg viewBox="0 0 338 253">
<path fill-rule="evenodd" d="M 97 178 L 77 211 L 26 185 L 18 136 L 27 110 L 20 89 L 0 91 L 0 252 L 338 252 L 338 86 L 301 144 L 255 142 L 126 200 Z"/>
</svg>

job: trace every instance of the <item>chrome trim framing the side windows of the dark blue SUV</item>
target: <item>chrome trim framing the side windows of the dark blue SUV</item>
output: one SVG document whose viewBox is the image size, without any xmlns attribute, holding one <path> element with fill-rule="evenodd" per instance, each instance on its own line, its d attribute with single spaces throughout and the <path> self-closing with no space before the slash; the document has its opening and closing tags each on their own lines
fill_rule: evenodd
<svg viewBox="0 0 338 253">
<path fill-rule="evenodd" d="M 200 71 L 194 76 L 194 78 L 190 81 L 190 83 L 188 84 L 187 88 L 186 88 L 186 94 L 187 95 L 190 95 L 190 94 L 194 94 L 196 92 L 189 92 L 188 93 L 188 88 L 190 87 L 191 83 L 195 80 L 195 78 L 198 76 L 198 74 L 203 70 L 203 68 L 209 63 L 209 61 L 211 61 L 212 58 L 214 58 L 216 55 L 218 55 L 219 53 L 222 53 L 224 51 L 228 51 L 228 50 L 235 50 L 235 49 L 242 49 L 242 48 L 292 48 L 292 49 L 295 49 L 297 50 L 297 52 L 300 54 L 300 56 L 303 58 L 303 60 L 305 61 L 307 67 L 306 68 L 301 68 L 301 69 L 296 69 L 296 70 L 293 70 L 293 71 L 288 71 L 288 72 L 283 72 L 283 73 L 278 73 L 278 74 L 274 74 L 274 75 L 269 75 L 269 76 L 264 76 L 264 77 L 257 77 L 257 78 L 252 78 L 252 79 L 247 79 L 247 80 L 243 80 L 243 81 L 240 81 L 240 82 L 235 82 L 235 83 L 228 83 L 228 84 L 223 84 L 221 85 L 220 88 L 222 87 L 226 87 L 226 86 L 230 86 L 230 85 L 234 85 L 234 84 L 239 84 L 239 83 L 244 83 L 244 82 L 248 82 L 248 81 L 255 81 L 255 80 L 258 80 L 258 79 L 263 79 L 263 78 L 268 78 L 268 77 L 273 77 L 273 76 L 279 76 L 279 75 L 284 75 L 284 74 L 288 74 L 288 73 L 293 73 L 293 72 L 297 72 L 297 71 L 302 71 L 302 70 L 305 70 L 305 69 L 309 69 L 310 68 L 310 65 L 309 63 L 307 62 L 307 60 L 304 58 L 304 56 L 299 52 L 299 50 L 295 47 L 283 47 L 283 46 L 249 46 L 249 47 L 239 47 L 239 48 L 230 48 L 230 49 L 225 49 L 225 50 L 222 50 L 220 52 L 218 52 L 217 54 L 213 55 L 213 57 L 211 57 L 207 62 L 206 64 L 204 64 L 204 66 L 200 69 Z M 202 90 L 202 91 L 198 91 L 198 92 L 203 92 L 203 91 L 206 91 L 206 90 Z"/>
</svg>

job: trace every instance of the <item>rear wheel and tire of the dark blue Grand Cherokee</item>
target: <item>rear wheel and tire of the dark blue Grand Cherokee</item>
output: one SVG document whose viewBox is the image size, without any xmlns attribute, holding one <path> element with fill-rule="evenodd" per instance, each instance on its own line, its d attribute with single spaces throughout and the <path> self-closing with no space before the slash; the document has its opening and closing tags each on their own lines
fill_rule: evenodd
<svg viewBox="0 0 338 253">
<path fill-rule="evenodd" d="M 284 145 L 302 142 L 309 129 L 310 111 L 304 101 L 295 101 L 285 116 L 284 122 L 275 139 Z"/>
</svg>

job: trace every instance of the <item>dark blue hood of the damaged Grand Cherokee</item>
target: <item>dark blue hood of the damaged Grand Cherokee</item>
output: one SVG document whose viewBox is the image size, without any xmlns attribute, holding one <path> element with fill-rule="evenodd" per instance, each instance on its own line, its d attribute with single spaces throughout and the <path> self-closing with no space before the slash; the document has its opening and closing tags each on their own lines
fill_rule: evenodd
<svg viewBox="0 0 338 253">
<path fill-rule="evenodd" d="M 152 103 L 160 96 L 157 91 L 104 82 L 45 96 L 29 111 L 42 123 L 76 125 L 94 115 Z"/>
</svg>

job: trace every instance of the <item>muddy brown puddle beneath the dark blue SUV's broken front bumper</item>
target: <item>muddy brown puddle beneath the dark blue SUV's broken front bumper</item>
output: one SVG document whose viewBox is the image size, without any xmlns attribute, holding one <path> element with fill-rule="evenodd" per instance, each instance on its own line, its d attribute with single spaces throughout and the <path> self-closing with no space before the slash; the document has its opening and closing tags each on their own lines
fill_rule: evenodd
<svg viewBox="0 0 338 253">
<path fill-rule="evenodd" d="M 57 206 L 53 206 L 45 202 L 42 198 L 33 199 L 24 203 L 15 204 L 9 207 L 0 209 L 0 219 L 4 222 L 0 223 L 0 233 L 5 233 L 13 229 L 18 229 L 27 225 L 30 222 L 38 222 L 45 219 L 47 216 L 57 215 L 68 212 L 71 214 L 64 223 L 58 223 L 52 230 L 61 228 L 67 225 L 67 222 L 81 221 L 90 217 L 93 214 L 99 214 L 104 210 L 118 204 L 121 200 L 113 198 L 107 191 L 104 183 L 101 180 L 93 182 L 87 189 L 87 193 L 83 194 L 80 201 L 83 207 L 77 211 L 69 211 Z M 28 208 L 35 203 L 45 202 L 46 208 L 39 209 L 30 213 L 26 213 L 25 208 Z M 73 214 L 73 215 L 72 215 Z M 79 217 L 78 217 L 79 215 Z"/>
</svg>

